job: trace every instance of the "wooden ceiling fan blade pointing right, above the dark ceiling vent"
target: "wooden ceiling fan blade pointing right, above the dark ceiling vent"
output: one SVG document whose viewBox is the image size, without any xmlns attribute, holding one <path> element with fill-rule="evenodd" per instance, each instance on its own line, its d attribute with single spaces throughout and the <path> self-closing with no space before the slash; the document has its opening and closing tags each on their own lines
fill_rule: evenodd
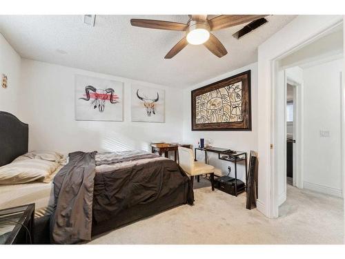
<svg viewBox="0 0 345 259">
<path fill-rule="evenodd" d="M 242 23 L 248 23 L 265 16 L 267 15 L 219 15 L 210 19 L 208 23 L 210 24 L 211 30 L 221 30 L 237 26 Z"/>
</svg>

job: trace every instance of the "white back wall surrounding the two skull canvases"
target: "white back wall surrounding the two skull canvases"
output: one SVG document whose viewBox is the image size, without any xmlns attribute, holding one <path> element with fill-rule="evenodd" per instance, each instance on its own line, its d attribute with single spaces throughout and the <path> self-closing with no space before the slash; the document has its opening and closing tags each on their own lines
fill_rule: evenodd
<svg viewBox="0 0 345 259">
<path fill-rule="evenodd" d="M 22 59 L 20 111 L 29 124 L 29 149 L 149 150 L 150 142 L 180 142 L 182 90 Z M 124 82 L 124 122 L 75 121 L 75 74 Z M 130 84 L 166 90 L 166 122 L 130 122 Z"/>
</svg>

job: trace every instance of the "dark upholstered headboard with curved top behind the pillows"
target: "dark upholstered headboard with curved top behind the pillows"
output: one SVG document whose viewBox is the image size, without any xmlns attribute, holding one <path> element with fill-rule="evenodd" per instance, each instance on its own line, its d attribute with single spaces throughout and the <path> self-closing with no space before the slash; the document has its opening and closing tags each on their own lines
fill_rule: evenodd
<svg viewBox="0 0 345 259">
<path fill-rule="evenodd" d="M 28 152 L 29 126 L 17 117 L 0 111 L 0 166 Z"/>
</svg>

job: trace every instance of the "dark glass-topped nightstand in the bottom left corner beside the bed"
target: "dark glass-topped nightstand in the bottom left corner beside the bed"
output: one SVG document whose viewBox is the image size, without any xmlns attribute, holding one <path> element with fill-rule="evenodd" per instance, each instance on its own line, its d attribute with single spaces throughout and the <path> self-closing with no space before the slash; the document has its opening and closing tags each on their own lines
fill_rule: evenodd
<svg viewBox="0 0 345 259">
<path fill-rule="evenodd" d="M 33 217 L 34 204 L 0 210 L 0 244 L 12 244 L 19 231 L 25 231 L 25 235 L 32 242 L 30 232 L 33 230 Z M 32 224 L 28 225 L 29 222 Z"/>
</svg>

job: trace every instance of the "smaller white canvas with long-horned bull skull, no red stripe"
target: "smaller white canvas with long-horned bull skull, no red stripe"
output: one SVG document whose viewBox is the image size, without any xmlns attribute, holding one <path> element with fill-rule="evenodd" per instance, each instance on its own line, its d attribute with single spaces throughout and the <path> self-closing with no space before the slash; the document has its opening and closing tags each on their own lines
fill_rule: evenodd
<svg viewBox="0 0 345 259">
<path fill-rule="evenodd" d="M 132 85 L 132 122 L 164 122 L 164 90 Z"/>
</svg>

